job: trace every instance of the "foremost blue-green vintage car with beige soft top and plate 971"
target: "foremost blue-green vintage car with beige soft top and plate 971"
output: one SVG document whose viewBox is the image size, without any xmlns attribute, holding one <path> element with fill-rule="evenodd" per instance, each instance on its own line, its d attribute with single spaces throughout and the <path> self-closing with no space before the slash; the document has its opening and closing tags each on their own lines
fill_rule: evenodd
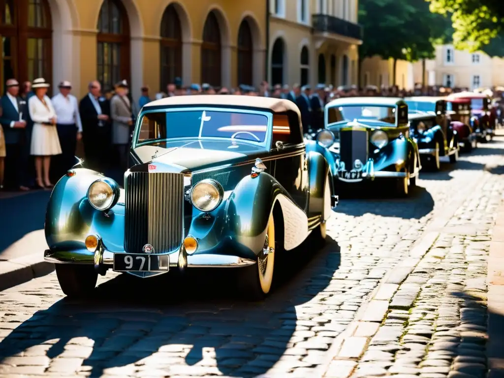
<svg viewBox="0 0 504 378">
<path fill-rule="evenodd" d="M 324 156 L 307 151 L 288 100 L 178 96 L 139 114 L 133 164 L 118 182 L 82 165 L 54 186 L 45 221 L 62 291 L 89 294 L 108 269 L 152 277 L 186 267 L 240 267 L 268 294 L 278 254 L 326 237 L 337 204 Z M 280 260 L 279 260 L 280 261 Z"/>
</svg>

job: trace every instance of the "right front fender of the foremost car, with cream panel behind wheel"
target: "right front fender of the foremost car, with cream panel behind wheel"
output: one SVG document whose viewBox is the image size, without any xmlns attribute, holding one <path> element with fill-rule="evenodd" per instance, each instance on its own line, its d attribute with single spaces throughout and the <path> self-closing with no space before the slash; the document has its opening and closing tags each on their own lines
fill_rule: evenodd
<svg viewBox="0 0 504 378">
<path fill-rule="evenodd" d="M 229 197 L 227 218 L 231 236 L 254 253 L 254 257 L 264 247 L 270 214 L 277 204 L 282 210 L 284 248 L 293 249 L 307 236 L 308 218 L 273 176 L 266 172 L 255 178 L 246 176 Z M 275 225 L 278 227 L 279 223 Z"/>
</svg>

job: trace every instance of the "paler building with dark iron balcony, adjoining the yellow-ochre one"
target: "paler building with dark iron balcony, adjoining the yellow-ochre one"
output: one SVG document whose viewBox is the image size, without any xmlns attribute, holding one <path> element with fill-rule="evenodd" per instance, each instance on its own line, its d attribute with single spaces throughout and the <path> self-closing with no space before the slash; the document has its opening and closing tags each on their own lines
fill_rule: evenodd
<svg viewBox="0 0 504 378">
<path fill-rule="evenodd" d="M 357 84 L 358 0 L 270 0 L 268 81 Z"/>
</svg>

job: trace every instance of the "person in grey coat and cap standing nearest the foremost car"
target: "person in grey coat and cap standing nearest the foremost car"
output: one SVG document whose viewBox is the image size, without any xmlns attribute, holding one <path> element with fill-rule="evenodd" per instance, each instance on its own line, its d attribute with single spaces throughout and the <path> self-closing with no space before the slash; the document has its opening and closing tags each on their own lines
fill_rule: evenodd
<svg viewBox="0 0 504 378">
<path fill-rule="evenodd" d="M 128 98 L 128 83 L 123 80 L 115 85 L 115 96 L 110 100 L 112 118 L 112 144 L 115 146 L 121 168 L 128 168 L 130 129 L 133 124 L 132 103 Z"/>
</svg>

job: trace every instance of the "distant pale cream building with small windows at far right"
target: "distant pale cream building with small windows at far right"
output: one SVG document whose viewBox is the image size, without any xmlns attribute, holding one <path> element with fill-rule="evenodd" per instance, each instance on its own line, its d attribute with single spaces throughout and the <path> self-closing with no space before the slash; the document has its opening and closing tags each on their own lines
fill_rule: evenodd
<svg viewBox="0 0 504 378">
<path fill-rule="evenodd" d="M 504 85 L 504 59 L 484 52 L 468 52 L 453 45 L 436 46 L 435 83 L 444 87 L 476 89 Z"/>
</svg>

